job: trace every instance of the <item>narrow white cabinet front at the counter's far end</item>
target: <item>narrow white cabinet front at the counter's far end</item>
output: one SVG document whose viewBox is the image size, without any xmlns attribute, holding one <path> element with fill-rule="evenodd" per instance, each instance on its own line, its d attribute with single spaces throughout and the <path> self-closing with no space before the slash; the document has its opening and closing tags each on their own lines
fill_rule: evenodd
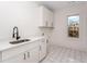
<svg viewBox="0 0 87 64">
<path fill-rule="evenodd" d="M 40 43 L 40 61 L 46 55 L 46 40 L 42 39 Z"/>
</svg>

